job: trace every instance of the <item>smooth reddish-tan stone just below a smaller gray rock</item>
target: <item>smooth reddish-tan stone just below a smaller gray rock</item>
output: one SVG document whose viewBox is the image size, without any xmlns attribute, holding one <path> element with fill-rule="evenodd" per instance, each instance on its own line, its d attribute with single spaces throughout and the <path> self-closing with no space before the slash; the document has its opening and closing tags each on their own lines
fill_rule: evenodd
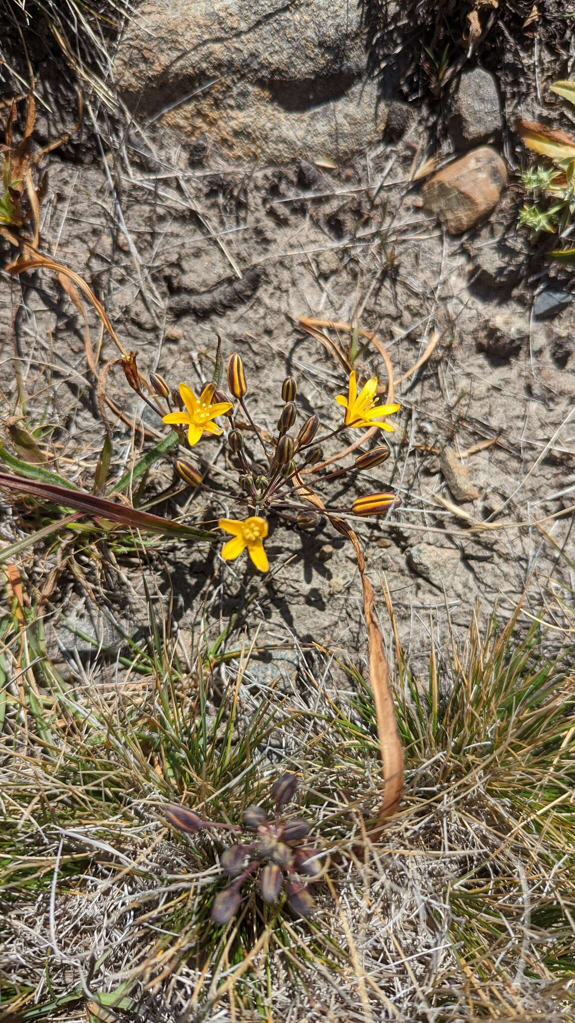
<svg viewBox="0 0 575 1023">
<path fill-rule="evenodd" d="M 423 205 L 437 214 L 449 234 L 462 234 L 493 212 L 506 180 L 506 168 L 499 153 L 481 145 L 426 182 L 422 189 Z"/>
</svg>

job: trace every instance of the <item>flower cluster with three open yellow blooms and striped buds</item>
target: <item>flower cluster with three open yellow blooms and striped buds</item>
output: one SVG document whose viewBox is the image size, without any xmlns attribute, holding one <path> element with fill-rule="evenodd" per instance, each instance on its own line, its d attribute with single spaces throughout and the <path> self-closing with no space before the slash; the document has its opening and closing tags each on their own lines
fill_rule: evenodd
<svg viewBox="0 0 575 1023">
<path fill-rule="evenodd" d="M 227 424 L 227 445 L 231 461 L 237 470 L 238 491 L 233 495 L 238 508 L 247 513 L 237 519 L 220 519 L 219 528 L 229 539 L 223 545 L 222 557 L 226 561 L 239 558 L 248 551 L 253 564 L 260 572 L 267 572 L 269 562 L 264 549 L 268 535 L 270 515 L 297 524 L 301 529 L 312 529 L 322 514 L 353 516 L 378 516 L 386 514 L 390 507 L 399 504 L 394 493 L 381 492 L 356 498 L 350 507 L 327 507 L 321 501 L 305 499 L 314 491 L 307 481 L 313 473 L 314 482 L 340 478 L 349 473 L 371 470 L 386 461 L 390 455 L 387 444 L 365 451 L 353 463 L 335 472 L 320 472 L 324 469 L 323 443 L 346 430 L 393 431 L 385 417 L 397 412 L 399 405 L 378 403 L 378 377 L 371 376 L 358 389 L 355 370 L 349 376 L 347 395 L 338 395 L 336 401 L 344 411 L 343 422 L 327 433 L 320 429 L 319 416 L 308 416 L 298 424 L 296 404 L 297 384 L 288 376 L 281 387 L 283 407 L 273 436 L 260 428 L 246 403 L 248 385 L 240 356 L 232 352 L 227 363 L 227 385 L 229 395 L 219 390 L 215 384 L 207 384 L 200 395 L 193 393 L 187 384 L 180 384 L 177 390 L 170 390 L 163 376 L 150 376 L 150 393 L 166 406 L 164 414 L 144 394 L 146 382 L 140 376 L 134 356 L 124 360 L 124 370 L 130 386 L 147 402 L 153 410 L 162 414 L 162 421 L 173 427 L 182 443 L 189 447 L 203 441 L 205 437 L 221 436 L 222 421 Z M 216 420 L 220 420 L 219 422 Z M 246 444 L 251 435 L 257 453 L 251 453 L 252 445 Z M 190 487 L 203 485 L 202 474 L 189 459 L 178 459 L 175 469 L 184 483 Z M 302 478 L 306 476 L 306 483 Z M 231 496 L 231 495 L 226 495 Z M 318 506 L 320 505 L 320 506 Z"/>
</svg>

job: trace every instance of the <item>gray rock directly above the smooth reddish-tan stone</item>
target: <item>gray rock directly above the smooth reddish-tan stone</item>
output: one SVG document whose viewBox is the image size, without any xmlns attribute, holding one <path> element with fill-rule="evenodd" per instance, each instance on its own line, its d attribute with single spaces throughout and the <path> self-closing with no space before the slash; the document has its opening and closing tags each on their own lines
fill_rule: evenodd
<svg viewBox="0 0 575 1023">
<path fill-rule="evenodd" d="M 477 145 L 501 131 L 501 102 L 493 75 L 463 72 L 451 99 L 449 127 L 457 145 Z"/>
</svg>

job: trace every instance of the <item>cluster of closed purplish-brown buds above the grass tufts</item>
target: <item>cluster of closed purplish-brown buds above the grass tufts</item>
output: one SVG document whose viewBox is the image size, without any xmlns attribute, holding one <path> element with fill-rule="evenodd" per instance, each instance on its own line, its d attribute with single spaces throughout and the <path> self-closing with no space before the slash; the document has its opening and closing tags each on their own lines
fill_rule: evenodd
<svg viewBox="0 0 575 1023">
<path fill-rule="evenodd" d="M 298 780 L 282 774 L 272 789 L 275 814 L 270 818 L 263 806 L 252 805 L 244 813 L 244 826 L 233 827 L 203 820 L 194 810 L 171 803 L 165 814 L 171 825 L 186 834 L 202 829 L 224 829 L 244 833 L 244 840 L 229 845 L 220 854 L 220 866 L 227 878 L 212 904 L 212 920 L 228 924 L 250 893 L 271 904 L 283 894 L 298 917 L 309 917 L 314 900 L 311 880 L 321 874 L 319 852 L 309 844 L 310 825 L 303 817 L 280 816 L 283 806 L 294 799 Z"/>
</svg>

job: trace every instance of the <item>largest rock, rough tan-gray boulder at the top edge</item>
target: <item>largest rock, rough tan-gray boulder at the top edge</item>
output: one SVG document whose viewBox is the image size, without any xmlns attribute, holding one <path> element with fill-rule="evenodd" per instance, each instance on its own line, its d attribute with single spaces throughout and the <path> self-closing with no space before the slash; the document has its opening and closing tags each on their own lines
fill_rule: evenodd
<svg viewBox="0 0 575 1023">
<path fill-rule="evenodd" d="M 190 150 L 204 136 L 228 159 L 339 161 L 385 127 L 364 43 L 349 0 L 144 0 L 115 70 Z"/>
</svg>

